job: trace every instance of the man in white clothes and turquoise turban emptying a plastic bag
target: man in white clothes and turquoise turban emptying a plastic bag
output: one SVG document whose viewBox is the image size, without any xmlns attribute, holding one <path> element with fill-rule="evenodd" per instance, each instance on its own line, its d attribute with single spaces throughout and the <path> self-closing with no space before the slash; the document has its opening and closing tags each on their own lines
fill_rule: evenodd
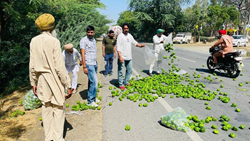
<svg viewBox="0 0 250 141">
<path fill-rule="evenodd" d="M 155 56 L 157 58 L 157 61 L 153 62 L 150 65 L 149 76 L 152 76 L 152 72 L 153 72 L 153 68 L 155 66 L 155 63 L 157 63 L 156 74 L 160 74 L 162 58 L 159 58 L 159 57 L 162 57 L 162 55 L 159 55 L 159 54 L 163 53 L 163 51 L 164 51 L 163 43 L 167 39 L 167 37 L 165 35 L 162 35 L 163 32 L 164 32 L 163 29 L 157 29 L 156 35 L 153 37 L 153 42 L 154 42 L 153 49 L 155 50 Z"/>
</svg>

